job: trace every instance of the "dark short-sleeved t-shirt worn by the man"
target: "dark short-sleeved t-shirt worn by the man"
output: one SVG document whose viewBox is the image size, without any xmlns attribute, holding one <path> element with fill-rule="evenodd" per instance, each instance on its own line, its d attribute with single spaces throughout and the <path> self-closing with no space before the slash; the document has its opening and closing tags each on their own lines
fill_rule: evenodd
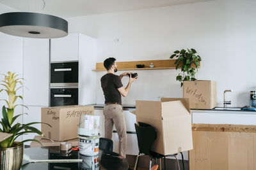
<svg viewBox="0 0 256 170">
<path fill-rule="evenodd" d="M 119 76 L 108 73 L 100 78 L 101 87 L 105 97 L 106 103 L 120 103 L 122 104 L 121 94 L 118 92 L 118 88 L 123 87 Z"/>
</svg>

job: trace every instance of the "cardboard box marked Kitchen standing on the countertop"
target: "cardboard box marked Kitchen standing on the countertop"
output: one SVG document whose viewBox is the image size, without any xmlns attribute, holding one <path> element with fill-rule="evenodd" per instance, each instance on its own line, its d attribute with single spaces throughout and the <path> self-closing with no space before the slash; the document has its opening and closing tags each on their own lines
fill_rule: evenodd
<svg viewBox="0 0 256 170">
<path fill-rule="evenodd" d="M 212 109 L 217 106 L 216 81 L 183 81 L 183 97 L 189 98 L 191 109 Z"/>
</svg>

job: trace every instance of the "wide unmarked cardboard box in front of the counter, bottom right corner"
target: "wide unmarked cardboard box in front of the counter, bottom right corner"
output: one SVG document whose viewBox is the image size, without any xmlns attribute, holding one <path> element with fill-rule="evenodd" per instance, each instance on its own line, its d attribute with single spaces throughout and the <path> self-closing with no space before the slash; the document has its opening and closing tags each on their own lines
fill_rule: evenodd
<svg viewBox="0 0 256 170">
<path fill-rule="evenodd" d="M 255 125 L 193 124 L 189 169 L 256 169 L 255 132 Z"/>
</svg>

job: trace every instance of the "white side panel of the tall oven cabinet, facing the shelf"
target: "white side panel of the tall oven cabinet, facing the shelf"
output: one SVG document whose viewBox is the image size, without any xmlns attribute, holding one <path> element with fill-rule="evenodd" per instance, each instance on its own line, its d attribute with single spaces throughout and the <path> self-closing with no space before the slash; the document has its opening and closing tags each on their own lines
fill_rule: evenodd
<svg viewBox="0 0 256 170">
<path fill-rule="evenodd" d="M 78 104 L 95 104 L 97 74 L 95 38 L 79 34 L 79 99 Z"/>
</svg>

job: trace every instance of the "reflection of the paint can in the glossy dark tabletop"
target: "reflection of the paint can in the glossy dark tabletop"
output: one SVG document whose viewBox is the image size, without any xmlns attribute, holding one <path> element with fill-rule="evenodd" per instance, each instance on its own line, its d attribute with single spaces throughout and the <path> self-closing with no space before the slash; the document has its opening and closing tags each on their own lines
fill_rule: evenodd
<svg viewBox="0 0 256 170">
<path fill-rule="evenodd" d="M 99 170 L 99 155 L 88 157 L 79 154 L 79 159 L 83 159 L 83 162 L 79 162 L 78 168 L 83 170 Z"/>
</svg>

